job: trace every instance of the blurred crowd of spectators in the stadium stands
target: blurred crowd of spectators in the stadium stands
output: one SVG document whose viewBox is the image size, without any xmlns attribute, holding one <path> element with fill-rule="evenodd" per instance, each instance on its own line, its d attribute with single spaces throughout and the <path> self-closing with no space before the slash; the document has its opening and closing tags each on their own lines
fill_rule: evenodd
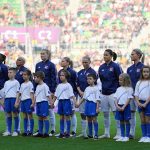
<svg viewBox="0 0 150 150">
<path fill-rule="evenodd" d="M 69 56 L 75 62 L 74 67 L 80 68 L 82 56 L 90 55 L 96 68 L 102 62 L 103 51 L 111 48 L 118 53 L 118 62 L 126 68 L 133 39 L 140 37 L 142 30 L 150 25 L 149 0 L 3 1 L 8 0 L 0 2 L 0 26 L 56 26 L 61 29 L 59 44 L 52 46 L 47 39 L 41 44 L 32 44 L 34 60 L 26 56 L 29 64 L 39 59 L 37 54 L 44 45 L 51 49 L 52 59 L 58 67 L 59 60 Z M 148 64 L 150 31 L 138 42 Z M 25 45 L 19 41 L 0 39 L 0 50 L 5 50 L 9 56 L 9 64 L 13 64 L 18 55 L 23 55 L 24 49 Z"/>
</svg>

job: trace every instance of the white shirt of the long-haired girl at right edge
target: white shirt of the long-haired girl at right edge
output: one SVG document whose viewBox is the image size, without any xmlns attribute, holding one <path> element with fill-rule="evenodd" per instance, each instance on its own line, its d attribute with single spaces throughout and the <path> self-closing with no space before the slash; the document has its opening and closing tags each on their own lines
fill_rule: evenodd
<svg viewBox="0 0 150 150">
<path fill-rule="evenodd" d="M 140 100 L 146 101 L 150 97 L 150 80 L 138 81 L 135 87 L 134 96 L 137 96 Z"/>
</svg>

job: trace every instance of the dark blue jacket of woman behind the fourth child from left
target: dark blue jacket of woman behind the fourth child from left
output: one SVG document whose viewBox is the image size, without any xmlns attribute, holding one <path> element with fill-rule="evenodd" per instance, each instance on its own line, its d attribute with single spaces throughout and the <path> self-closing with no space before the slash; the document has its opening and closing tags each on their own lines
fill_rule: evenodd
<svg viewBox="0 0 150 150">
<path fill-rule="evenodd" d="M 58 77 L 60 75 L 61 70 L 58 72 Z M 67 71 L 70 73 L 70 78 L 67 81 L 68 81 L 68 83 L 71 84 L 74 93 L 77 94 L 77 92 L 78 92 L 77 91 L 77 73 L 70 67 L 67 68 Z M 59 83 L 61 83 L 60 78 L 59 78 Z"/>
</svg>

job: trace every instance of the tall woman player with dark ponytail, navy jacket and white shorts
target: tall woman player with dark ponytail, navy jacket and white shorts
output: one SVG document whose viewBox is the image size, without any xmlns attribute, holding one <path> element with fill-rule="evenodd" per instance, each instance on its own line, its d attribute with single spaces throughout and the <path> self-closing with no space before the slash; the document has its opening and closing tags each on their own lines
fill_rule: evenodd
<svg viewBox="0 0 150 150">
<path fill-rule="evenodd" d="M 117 54 L 111 49 L 106 49 L 104 52 L 105 63 L 99 67 L 99 77 L 102 82 L 102 102 L 101 108 L 104 113 L 104 126 L 105 133 L 100 138 L 110 138 L 110 109 L 115 114 L 116 106 L 115 99 L 113 97 L 117 88 L 119 87 L 119 75 L 122 73 L 122 69 L 119 64 L 114 61 L 117 59 Z M 117 123 L 117 134 L 115 139 L 120 138 L 120 123 Z"/>
</svg>

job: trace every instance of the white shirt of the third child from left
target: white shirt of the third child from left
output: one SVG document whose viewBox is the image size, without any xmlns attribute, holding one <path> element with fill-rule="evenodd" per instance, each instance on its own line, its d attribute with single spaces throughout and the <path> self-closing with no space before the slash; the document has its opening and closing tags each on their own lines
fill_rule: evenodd
<svg viewBox="0 0 150 150">
<path fill-rule="evenodd" d="M 46 83 L 43 83 L 36 87 L 35 91 L 36 103 L 48 101 L 48 96 L 50 96 L 50 90 L 49 87 L 46 85 Z"/>
</svg>

